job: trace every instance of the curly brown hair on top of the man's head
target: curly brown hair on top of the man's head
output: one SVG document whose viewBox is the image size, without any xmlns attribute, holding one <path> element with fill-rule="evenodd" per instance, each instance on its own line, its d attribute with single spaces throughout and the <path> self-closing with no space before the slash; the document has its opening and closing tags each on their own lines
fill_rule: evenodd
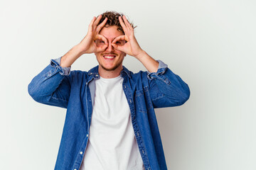
<svg viewBox="0 0 256 170">
<path fill-rule="evenodd" d="M 102 13 L 102 18 L 100 19 L 100 23 L 102 23 L 105 18 L 107 18 L 107 23 L 105 27 L 110 27 L 110 26 L 117 26 L 117 30 L 121 31 L 124 34 L 124 30 L 119 22 L 119 16 L 124 16 L 123 13 L 117 13 L 116 11 L 106 11 L 105 13 Z M 128 21 L 129 22 L 129 21 Z M 129 22 L 132 25 L 132 28 L 136 28 L 137 26 L 134 26 L 133 23 Z"/>
</svg>

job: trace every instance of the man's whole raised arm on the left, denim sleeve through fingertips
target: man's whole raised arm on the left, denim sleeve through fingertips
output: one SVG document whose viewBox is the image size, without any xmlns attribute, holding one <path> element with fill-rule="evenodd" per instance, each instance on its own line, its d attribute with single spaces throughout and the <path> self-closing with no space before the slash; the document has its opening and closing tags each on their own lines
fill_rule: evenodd
<svg viewBox="0 0 256 170">
<path fill-rule="evenodd" d="M 105 26 L 107 18 L 97 26 L 100 18 L 102 16 L 92 19 L 87 35 L 78 45 L 61 57 L 60 61 L 51 60 L 50 64 L 28 84 L 28 94 L 35 101 L 63 108 L 68 106 L 72 74 L 70 75 L 70 69 L 65 68 L 70 67 L 82 54 L 105 50 L 107 47 L 106 38 L 98 34 Z M 97 47 L 96 39 L 103 40 L 105 45 Z"/>
</svg>

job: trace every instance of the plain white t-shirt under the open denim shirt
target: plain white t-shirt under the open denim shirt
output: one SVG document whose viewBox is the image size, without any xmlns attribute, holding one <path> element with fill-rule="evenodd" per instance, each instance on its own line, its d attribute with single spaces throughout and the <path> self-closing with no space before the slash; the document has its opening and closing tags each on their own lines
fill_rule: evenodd
<svg viewBox="0 0 256 170">
<path fill-rule="evenodd" d="M 142 170 L 121 76 L 95 81 L 90 135 L 80 170 Z"/>
</svg>

